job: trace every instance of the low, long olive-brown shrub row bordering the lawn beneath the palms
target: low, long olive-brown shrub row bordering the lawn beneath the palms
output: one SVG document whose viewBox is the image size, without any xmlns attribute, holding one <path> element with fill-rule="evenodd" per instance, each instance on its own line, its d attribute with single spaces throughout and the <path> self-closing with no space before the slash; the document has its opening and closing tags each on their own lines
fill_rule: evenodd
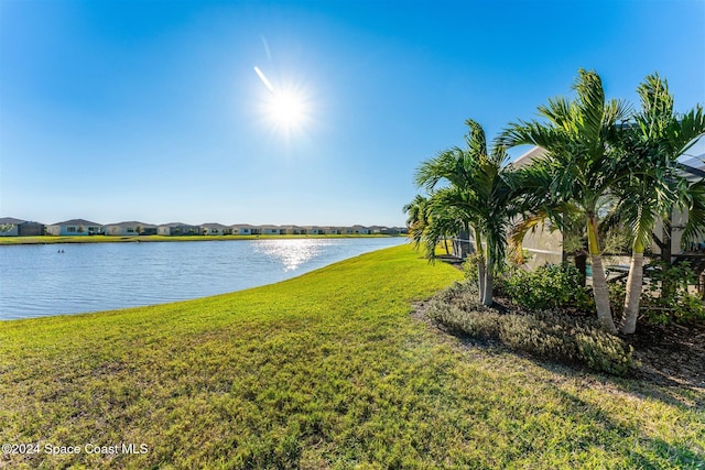
<svg viewBox="0 0 705 470">
<path fill-rule="evenodd" d="M 518 351 L 583 363 L 599 372 L 623 375 L 633 362 L 631 346 L 604 331 L 594 318 L 560 310 L 500 314 L 460 284 L 436 296 L 426 315 L 473 337 L 498 339 Z"/>
</svg>

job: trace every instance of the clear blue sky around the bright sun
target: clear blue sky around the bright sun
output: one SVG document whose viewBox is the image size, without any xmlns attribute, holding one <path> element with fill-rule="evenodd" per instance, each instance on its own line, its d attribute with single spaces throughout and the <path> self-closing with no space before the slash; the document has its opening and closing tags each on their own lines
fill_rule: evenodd
<svg viewBox="0 0 705 470">
<path fill-rule="evenodd" d="M 467 118 L 492 138 L 579 67 L 705 102 L 705 2 L 0 0 L 0 216 L 401 226 Z"/>
</svg>

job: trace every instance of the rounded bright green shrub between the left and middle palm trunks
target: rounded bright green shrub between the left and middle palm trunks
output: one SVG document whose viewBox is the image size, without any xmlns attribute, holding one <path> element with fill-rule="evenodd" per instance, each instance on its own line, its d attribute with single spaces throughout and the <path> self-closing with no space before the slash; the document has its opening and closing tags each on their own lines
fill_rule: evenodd
<svg viewBox="0 0 705 470">
<path fill-rule="evenodd" d="M 540 266 L 533 272 L 512 269 L 500 277 L 499 284 L 507 295 L 532 311 L 565 307 L 592 311 L 594 308 L 579 271 L 567 263 Z"/>
</svg>

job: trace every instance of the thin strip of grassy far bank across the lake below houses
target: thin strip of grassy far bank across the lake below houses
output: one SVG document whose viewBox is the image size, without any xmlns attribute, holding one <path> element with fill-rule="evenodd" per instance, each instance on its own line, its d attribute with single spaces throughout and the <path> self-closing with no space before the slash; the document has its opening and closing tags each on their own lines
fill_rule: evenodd
<svg viewBox="0 0 705 470">
<path fill-rule="evenodd" d="M 405 234 L 260 234 L 260 236 L 39 236 L 3 237 L 0 247 L 68 243 L 159 243 L 181 241 L 236 241 L 279 239 L 397 238 Z"/>
</svg>

